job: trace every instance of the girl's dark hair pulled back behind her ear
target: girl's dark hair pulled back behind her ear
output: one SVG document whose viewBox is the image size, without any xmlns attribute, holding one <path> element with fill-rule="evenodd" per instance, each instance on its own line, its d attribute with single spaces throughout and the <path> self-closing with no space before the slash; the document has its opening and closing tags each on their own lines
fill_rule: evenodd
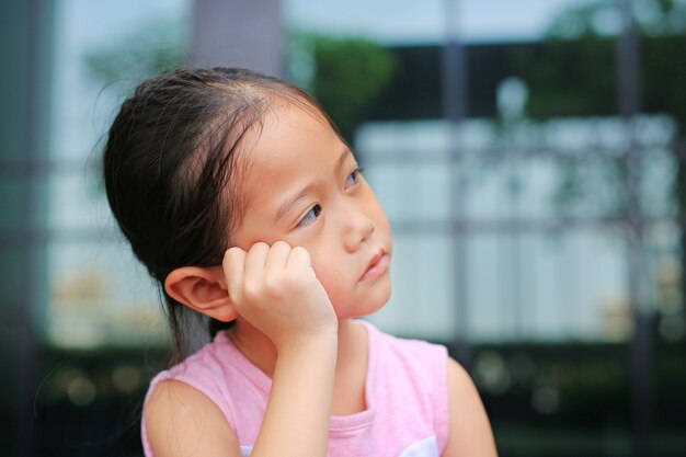
<svg viewBox="0 0 686 457">
<path fill-rule="evenodd" d="M 221 263 L 244 205 L 235 169 L 248 170 L 241 141 L 274 104 L 295 102 L 321 114 L 302 90 L 245 69 L 180 69 L 142 82 L 114 119 L 104 151 L 107 199 L 138 260 L 157 279 L 174 339 L 185 357 L 188 308 L 164 290 L 185 265 Z M 228 192 L 225 192 L 228 190 Z M 228 328 L 211 320 L 210 336 Z"/>
</svg>

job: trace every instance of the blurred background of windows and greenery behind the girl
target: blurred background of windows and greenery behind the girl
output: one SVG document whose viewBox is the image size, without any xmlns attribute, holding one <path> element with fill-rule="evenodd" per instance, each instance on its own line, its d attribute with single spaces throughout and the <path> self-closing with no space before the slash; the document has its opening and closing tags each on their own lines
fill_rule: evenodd
<svg viewBox="0 0 686 457">
<path fill-rule="evenodd" d="M 9 0 L 0 454 L 141 456 L 159 295 L 108 215 L 141 79 L 311 91 L 395 230 L 381 329 L 448 345 L 500 455 L 686 455 L 686 1 Z"/>
</svg>

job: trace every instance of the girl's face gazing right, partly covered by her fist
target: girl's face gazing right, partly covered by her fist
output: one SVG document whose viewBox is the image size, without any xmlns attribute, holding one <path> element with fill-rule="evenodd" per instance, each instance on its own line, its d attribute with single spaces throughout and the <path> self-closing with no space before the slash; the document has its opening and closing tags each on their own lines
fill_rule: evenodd
<svg viewBox="0 0 686 457">
<path fill-rule="evenodd" d="M 340 319 L 384 306 L 390 227 L 347 146 L 320 115 L 293 105 L 267 115 L 248 145 L 236 245 L 283 240 L 307 249 Z"/>
</svg>

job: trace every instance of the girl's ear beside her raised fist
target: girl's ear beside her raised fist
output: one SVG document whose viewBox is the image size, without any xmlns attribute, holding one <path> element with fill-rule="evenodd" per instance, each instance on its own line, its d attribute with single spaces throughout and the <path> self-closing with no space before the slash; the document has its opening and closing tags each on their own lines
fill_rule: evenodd
<svg viewBox="0 0 686 457">
<path fill-rule="evenodd" d="M 164 281 L 164 290 L 174 300 L 222 322 L 238 317 L 220 266 L 182 266 Z"/>
</svg>

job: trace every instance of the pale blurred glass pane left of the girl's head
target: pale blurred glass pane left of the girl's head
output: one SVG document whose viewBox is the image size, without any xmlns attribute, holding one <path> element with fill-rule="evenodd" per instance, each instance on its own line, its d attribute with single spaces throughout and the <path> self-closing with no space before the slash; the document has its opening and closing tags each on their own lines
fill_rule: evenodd
<svg viewBox="0 0 686 457">
<path fill-rule="evenodd" d="M 99 157 L 123 98 L 182 65 L 192 3 L 69 0 L 56 16 L 48 212 L 47 340 L 65 349 L 165 341 L 159 294 L 122 241 Z"/>
</svg>

